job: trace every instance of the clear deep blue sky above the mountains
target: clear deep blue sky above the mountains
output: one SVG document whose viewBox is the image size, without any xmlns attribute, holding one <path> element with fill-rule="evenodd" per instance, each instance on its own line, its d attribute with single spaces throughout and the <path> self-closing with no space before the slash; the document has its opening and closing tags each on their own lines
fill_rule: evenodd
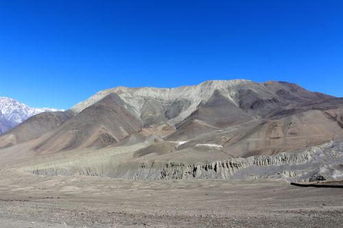
<svg viewBox="0 0 343 228">
<path fill-rule="evenodd" d="M 237 78 L 343 97 L 343 1 L 0 0 L 0 96 L 67 109 Z"/>
</svg>

